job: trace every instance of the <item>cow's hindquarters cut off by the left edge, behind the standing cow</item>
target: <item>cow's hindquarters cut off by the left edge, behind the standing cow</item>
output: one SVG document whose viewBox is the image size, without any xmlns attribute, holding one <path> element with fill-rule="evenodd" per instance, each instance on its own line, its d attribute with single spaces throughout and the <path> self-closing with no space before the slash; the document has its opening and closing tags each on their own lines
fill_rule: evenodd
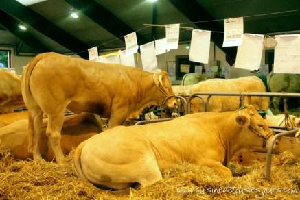
<svg viewBox="0 0 300 200">
<path fill-rule="evenodd" d="M 21 93 L 21 79 L 9 71 L 0 70 L 0 114 L 25 106 Z"/>
</svg>

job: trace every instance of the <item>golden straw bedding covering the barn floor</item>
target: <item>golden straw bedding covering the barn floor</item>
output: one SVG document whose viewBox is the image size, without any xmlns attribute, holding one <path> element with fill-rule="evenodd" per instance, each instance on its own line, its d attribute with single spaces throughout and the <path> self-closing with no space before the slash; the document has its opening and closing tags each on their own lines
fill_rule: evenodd
<svg viewBox="0 0 300 200">
<path fill-rule="evenodd" d="M 300 160 L 284 152 L 273 159 L 272 179 L 264 177 L 265 162 L 242 166 L 231 162 L 232 178 L 212 168 L 176 164 L 163 180 L 125 194 L 112 194 L 76 177 L 72 153 L 63 164 L 14 160 L 0 149 L 0 199 L 300 199 Z"/>
</svg>

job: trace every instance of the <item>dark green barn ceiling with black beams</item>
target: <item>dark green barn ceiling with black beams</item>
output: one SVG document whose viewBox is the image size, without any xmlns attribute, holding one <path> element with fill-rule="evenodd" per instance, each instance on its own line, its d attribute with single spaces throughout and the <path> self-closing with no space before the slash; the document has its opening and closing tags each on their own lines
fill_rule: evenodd
<svg viewBox="0 0 300 200">
<path fill-rule="evenodd" d="M 79 18 L 71 18 L 71 10 Z M 211 40 L 230 60 L 236 47 L 222 47 L 224 25 L 218 19 L 240 16 L 249 16 L 244 17 L 246 33 L 300 33 L 299 0 L 48 0 L 29 6 L 1 0 L 0 47 L 14 47 L 17 55 L 56 51 L 86 58 L 91 47 L 124 48 L 123 36 L 134 31 L 139 45 L 165 37 L 165 29 L 143 24 L 182 23 L 215 31 Z M 198 21 L 208 22 L 191 23 Z M 19 29 L 20 23 L 27 31 Z M 189 41 L 191 35 L 183 30 L 181 42 Z"/>
</svg>

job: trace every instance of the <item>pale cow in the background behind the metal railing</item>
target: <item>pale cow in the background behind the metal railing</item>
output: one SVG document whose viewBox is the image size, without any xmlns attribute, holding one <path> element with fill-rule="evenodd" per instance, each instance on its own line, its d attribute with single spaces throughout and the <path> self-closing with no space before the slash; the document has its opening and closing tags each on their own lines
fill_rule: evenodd
<svg viewBox="0 0 300 200">
<path fill-rule="evenodd" d="M 249 76 L 240 77 L 236 79 L 208 79 L 198 84 L 188 86 L 172 86 L 175 94 L 192 95 L 198 92 L 266 92 L 264 82 L 259 77 Z M 207 100 L 207 95 L 203 97 Z M 245 97 L 245 105 L 254 105 L 259 110 L 260 97 Z M 269 99 L 268 97 L 262 98 L 262 110 L 268 110 Z M 225 112 L 238 110 L 240 107 L 240 97 L 233 96 L 212 96 L 209 100 L 209 112 Z M 191 113 L 204 112 L 203 103 L 198 98 L 193 98 L 191 101 Z"/>
</svg>

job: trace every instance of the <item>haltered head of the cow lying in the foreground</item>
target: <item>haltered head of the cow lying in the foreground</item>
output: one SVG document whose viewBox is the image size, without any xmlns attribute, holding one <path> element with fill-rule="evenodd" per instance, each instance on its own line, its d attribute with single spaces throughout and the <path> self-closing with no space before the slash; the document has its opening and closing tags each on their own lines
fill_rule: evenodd
<svg viewBox="0 0 300 200">
<path fill-rule="evenodd" d="M 246 109 L 239 110 L 235 121 L 242 128 L 239 137 L 244 147 L 249 149 L 268 148 L 273 132 L 253 105 L 247 105 Z"/>
</svg>

